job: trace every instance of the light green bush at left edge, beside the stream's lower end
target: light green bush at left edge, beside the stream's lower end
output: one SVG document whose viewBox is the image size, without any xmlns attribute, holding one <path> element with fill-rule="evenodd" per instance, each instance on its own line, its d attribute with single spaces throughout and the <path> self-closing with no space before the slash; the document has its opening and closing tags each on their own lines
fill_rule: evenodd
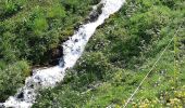
<svg viewBox="0 0 185 108">
<path fill-rule="evenodd" d="M 14 64 L 5 64 L 0 62 L 0 100 L 3 102 L 10 95 L 14 95 L 18 87 L 30 75 L 29 66 L 26 62 L 16 62 Z"/>
</svg>

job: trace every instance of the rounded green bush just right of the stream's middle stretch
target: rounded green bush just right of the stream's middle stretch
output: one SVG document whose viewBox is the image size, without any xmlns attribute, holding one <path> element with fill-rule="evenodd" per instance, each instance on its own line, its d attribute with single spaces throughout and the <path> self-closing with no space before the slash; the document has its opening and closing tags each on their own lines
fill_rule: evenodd
<svg viewBox="0 0 185 108">
<path fill-rule="evenodd" d="M 78 63 L 81 65 L 77 65 L 76 69 L 77 71 L 89 72 L 91 75 L 89 78 L 91 79 L 94 79 L 94 77 L 97 77 L 97 79 L 103 79 L 111 69 L 108 59 L 100 52 L 86 53 L 82 59 L 82 63 Z"/>
</svg>

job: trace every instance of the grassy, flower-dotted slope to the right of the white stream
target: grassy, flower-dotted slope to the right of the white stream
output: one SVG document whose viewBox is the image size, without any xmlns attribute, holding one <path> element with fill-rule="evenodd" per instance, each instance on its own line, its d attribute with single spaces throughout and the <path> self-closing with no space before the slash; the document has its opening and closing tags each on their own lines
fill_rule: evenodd
<svg viewBox="0 0 185 108">
<path fill-rule="evenodd" d="M 165 51 L 128 107 L 183 108 L 185 2 L 127 2 L 96 31 L 64 82 L 41 92 L 35 108 L 102 108 L 109 105 L 120 108 L 150 70 L 180 24 L 183 25 L 175 38 L 177 41 Z"/>
</svg>

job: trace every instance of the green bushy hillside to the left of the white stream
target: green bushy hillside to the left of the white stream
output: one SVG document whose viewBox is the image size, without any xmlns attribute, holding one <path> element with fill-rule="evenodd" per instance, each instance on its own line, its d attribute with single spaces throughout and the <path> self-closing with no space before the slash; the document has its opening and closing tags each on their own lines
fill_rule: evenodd
<svg viewBox="0 0 185 108">
<path fill-rule="evenodd" d="M 52 60 L 52 51 L 73 35 L 98 1 L 0 1 L 0 102 L 24 84 L 33 66 Z"/>
</svg>

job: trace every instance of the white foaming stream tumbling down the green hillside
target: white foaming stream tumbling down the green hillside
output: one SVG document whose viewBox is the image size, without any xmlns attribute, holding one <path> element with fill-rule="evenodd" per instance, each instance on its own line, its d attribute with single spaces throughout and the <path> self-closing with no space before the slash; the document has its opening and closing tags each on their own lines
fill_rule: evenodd
<svg viewBox="0 0 185 108">
<path fill-rule="evenodd" d="M 63 57 L 60 64 L 51 68 L 34 70 L 33 76 L 26 79 L 25 86 L 20 89 L 15 96 L 10 96 L 2 105 L 13 108 L 30 108 L 35 103 L 39 90 L 53 87 L 63 80 L 65 70 L 75 65 L 96 28 L 103 24 L 104 19 L 111 14 L 119 11 L 124 2 L 125 0 L 101 0 L 99 4 L 103 4 L 101 9 L 102 13 L 98 16 L 97 21 L 83 25 L 70 40 L 62 44 Z M 98 5 L 96 5 L 94 10 L 96 10 Z"/>
</svg>

